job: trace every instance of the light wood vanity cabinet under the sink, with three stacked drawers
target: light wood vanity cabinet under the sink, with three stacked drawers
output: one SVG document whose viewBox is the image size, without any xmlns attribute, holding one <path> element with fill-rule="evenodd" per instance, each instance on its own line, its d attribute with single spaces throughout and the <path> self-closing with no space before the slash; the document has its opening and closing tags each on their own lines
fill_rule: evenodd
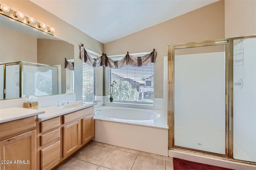
<svg viewBox="0 0 256 170">
<path fill-rule="evenodd" d="M 94 138 L 94 107 L 37 121 L 37 170 L 50 170 Z"/>
</svg>

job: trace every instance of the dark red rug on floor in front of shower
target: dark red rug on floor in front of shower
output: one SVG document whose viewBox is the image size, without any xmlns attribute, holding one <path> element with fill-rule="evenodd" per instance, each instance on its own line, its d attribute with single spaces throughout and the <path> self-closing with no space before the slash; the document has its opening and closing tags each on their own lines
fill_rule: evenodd
<svg viewBox="0 0 256 170">
<path fill-rule="evenodd" d="M 178 158 L 173 158 L 173 169 L 174 170 L 232 170 L 228 168 L 201 164 L 201 163 L 191 162 L 188 160 L 183 160 Z"/>
</svg>

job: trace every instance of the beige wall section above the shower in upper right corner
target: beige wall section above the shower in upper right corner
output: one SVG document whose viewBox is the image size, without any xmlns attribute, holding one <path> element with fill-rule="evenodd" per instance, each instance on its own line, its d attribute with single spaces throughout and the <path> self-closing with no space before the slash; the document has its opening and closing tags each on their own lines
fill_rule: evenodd
<svg viewBox="0 0 256 170">
<path fill-rule="evenodd" d="M 225 0 L 225 38 L 256 34 L 256 0 Z"/>
</svg>

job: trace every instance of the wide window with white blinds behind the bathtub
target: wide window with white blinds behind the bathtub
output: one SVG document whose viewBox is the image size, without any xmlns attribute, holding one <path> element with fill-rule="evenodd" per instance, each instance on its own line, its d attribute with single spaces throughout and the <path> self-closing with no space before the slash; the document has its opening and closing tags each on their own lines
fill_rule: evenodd
<svg viewBox="0 0 256 170">
<path fill-rule="evenodd" d="M 120 58 L 122 57 L 112 57 L 114 60 Z M 153 104 L 154 63 L 142 67 L 110 68 L 110 83 L 113 81 L 116 81 L 113 87 L 114 102 Z"/>
</svg>

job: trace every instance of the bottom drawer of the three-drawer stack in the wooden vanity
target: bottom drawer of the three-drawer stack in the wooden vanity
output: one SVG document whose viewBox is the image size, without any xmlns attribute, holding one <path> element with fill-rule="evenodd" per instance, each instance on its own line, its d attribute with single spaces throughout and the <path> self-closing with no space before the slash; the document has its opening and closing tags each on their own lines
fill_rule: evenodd
<svg viewBox="0 0 256 170">
<path fill-rule="evenodd" d="M 51 169 L 60 160 L 60 141 L 41 150 L 41 169 Z"/>
</svg>

